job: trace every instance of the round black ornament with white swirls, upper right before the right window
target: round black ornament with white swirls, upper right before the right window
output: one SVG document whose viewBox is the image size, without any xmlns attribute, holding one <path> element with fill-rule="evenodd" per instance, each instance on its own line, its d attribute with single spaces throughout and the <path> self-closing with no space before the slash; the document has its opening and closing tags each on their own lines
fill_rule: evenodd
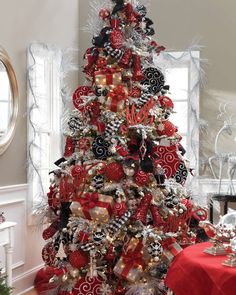
<svg viewBox="0 0 236 295">
<path fill-rule="evenodd" d="M 165 78 L 162 72 L 156 68 L 147 68 L 144 71 L 145 79 L 141 81 L 141 84 L 147 86 L 148 92 L 156 94 L 161 91 L 165 84 Z"/>
</svg>

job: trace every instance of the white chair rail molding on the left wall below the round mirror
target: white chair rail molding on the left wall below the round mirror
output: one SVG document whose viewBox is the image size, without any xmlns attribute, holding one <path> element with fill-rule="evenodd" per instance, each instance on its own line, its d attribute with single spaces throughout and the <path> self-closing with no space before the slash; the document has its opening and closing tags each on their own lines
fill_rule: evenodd
<svg viewBox="0 0 236 295">
<path fill-rule="evenodd" d="M 27 191 L 27 183 L 0 187 L 0 206 L 25 202 Z"/>
</svg>

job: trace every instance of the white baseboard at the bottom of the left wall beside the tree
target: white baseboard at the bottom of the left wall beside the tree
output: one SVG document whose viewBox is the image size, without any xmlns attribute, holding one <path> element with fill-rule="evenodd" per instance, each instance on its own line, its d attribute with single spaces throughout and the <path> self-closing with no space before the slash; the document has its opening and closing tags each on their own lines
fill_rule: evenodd
<svg viewBox="0 0 236 295">
<path fill-rule="evenodd" d="M 33 283 L 36 273 L 44 267 L 44 264 L 38 265 L 13 279 L 13 295 L 23 295 L 33 289 Z"/>
</svg>

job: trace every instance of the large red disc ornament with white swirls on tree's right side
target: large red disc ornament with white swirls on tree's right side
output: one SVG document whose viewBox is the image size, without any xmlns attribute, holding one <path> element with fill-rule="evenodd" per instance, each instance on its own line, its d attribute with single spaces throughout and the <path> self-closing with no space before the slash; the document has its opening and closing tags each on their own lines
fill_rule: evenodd
<svg viewBox="0 0 236 295">
<path fill-rule="evenodd" d="M 167 178 L 173 177 L 179 168 L 179 157 L 176 151 L 176 146 L 156 146 L 152 154 L 159 158 L 159 164 L 165 171 Z"/>
</svg>

